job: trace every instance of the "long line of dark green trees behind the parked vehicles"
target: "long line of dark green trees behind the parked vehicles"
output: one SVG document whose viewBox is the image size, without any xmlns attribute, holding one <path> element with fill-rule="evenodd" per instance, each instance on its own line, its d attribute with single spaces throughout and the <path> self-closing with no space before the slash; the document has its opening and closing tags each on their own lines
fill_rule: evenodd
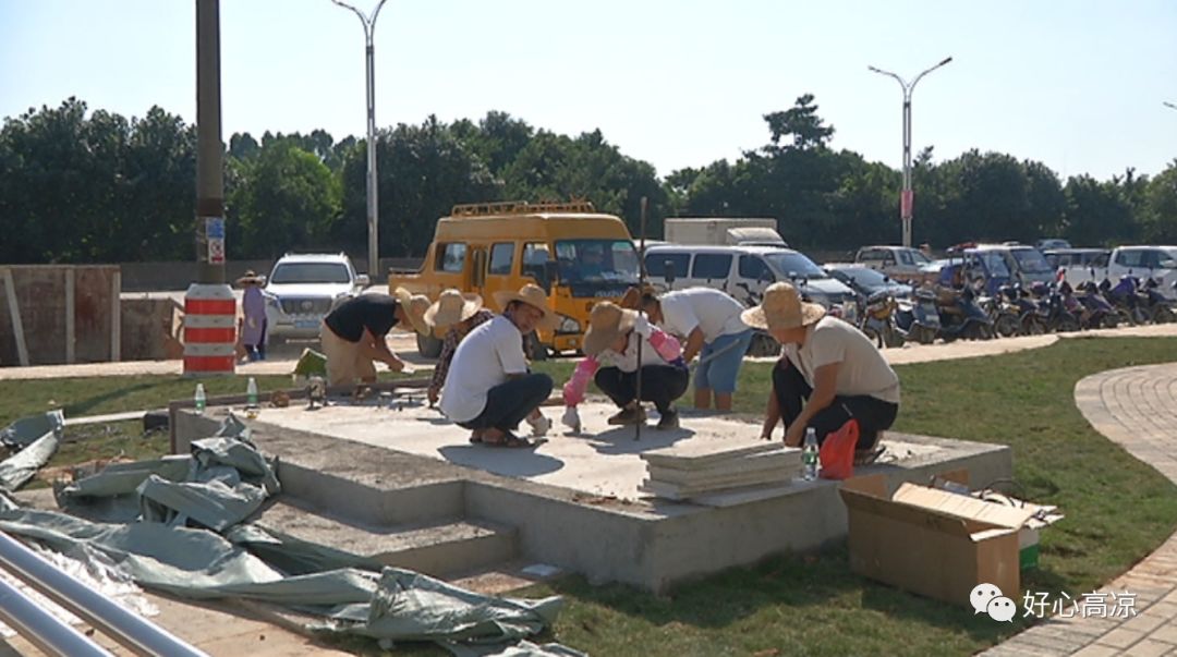
<svg viewBox="0 0 1177 657">
<path fill-rule="evenodd" d="M 600 131 L 577 137 L 504 112 L 379 131 L 380 252 L 421 256 L 437 218 L 459 203 L 587 199 L 637 235 L 665 217 L 772 217 L 803 250 L 897 240 L 900 172 L 829 144 L 834 128 L 812 95 L 764 115 L 767 141 L 659 179 Z M 195 258 L 195 126 L 160 107 L 142 118 L 89 112 L 71 98 L 0 128 L 0 261 L 104 263 Z M 225 157 L 231 259 L 290 250 L 363 253 L 366 144 L 325 131 L 233 134 Z M 1064 237 L 1077 245 L 1177 243 L 1177 160 L 1155 175 L 1064 182 L 1038 161 L 969 151 L 915 159 L 915 239 Z"/>
</svg>

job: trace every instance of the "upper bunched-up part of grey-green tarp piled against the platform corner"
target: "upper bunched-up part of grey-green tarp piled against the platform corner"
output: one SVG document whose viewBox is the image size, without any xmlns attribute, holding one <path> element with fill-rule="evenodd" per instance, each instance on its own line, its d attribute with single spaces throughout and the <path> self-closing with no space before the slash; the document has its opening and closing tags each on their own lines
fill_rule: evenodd
<svg viewBox="0 0 1177 657">
<path fill-rule="evenodd" d="M 191 456 L 113 465 L 59 490 L 58 503 L 117 499 L 125 518 L 138 513 L 148 522 L 182 526 L 191 520 L 224 531 L 280 490 L 248 427 L 231 414 L 217 436 L 192 442 Z"/>
</svg>

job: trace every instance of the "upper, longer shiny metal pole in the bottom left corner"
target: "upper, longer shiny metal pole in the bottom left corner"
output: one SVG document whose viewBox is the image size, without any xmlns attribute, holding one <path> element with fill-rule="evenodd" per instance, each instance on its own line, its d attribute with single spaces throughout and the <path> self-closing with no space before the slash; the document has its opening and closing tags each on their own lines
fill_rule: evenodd
<svg viewBox="0 0 1177 657">
<path fill-rule="evenodd" d="M 207 657 L 151 620 L 61 572 L 40 555 L 0 531 L 0 565 L 137 655 Z"/>
</svg>

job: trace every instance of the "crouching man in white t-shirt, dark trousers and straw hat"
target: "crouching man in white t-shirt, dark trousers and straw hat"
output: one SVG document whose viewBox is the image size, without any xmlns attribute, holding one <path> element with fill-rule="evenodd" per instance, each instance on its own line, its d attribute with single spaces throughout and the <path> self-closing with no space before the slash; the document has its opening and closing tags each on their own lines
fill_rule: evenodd
<svg viewBox="0 0 1177 657">
<path fill-rule="evenodd" d="M 556 312 L 547 304 L 547 294 L 532 284 L 518 292 L 496 292 L 494 300 L 503 314 L 478 326 L 458 344 L 439 405 L 446 417 L 473 431 L 472 443 L 528 446 L 514 431 L 524 418 L 537 416 L 539 405 L 552 392 L 552 378 L 527 370 L 523 337 L 538 328 L 553 328 Z"/>
</svg>

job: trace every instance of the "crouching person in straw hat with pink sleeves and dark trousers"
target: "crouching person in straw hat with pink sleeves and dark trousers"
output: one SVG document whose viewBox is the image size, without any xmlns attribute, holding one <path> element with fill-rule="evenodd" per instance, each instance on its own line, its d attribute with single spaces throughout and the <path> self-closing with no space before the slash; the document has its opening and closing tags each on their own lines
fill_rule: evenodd
<svg viewBox="0 0 1177 657">
<path fill-rule="evenodd" d="M 584 400 L 590 378 L 620 409 L 609 418 L 609 424 L 646 422 L 645 411 L 634 399 L 639 340 L 645 340 L 640 364 L 641 400 L 653 402 L 658 409 L 658 429 L 678 427 L 678 411 L 671 404 L 686 392 L 690 379 L 678 340 L 651 326 L 637 311 L 612 301 L 597 304 L 588 316 L 583 347 L 586 358 L 564 384 L 564 405 L 567 406 L 564 424 L 580 430 L 576 407 Z"/>
</svg>

